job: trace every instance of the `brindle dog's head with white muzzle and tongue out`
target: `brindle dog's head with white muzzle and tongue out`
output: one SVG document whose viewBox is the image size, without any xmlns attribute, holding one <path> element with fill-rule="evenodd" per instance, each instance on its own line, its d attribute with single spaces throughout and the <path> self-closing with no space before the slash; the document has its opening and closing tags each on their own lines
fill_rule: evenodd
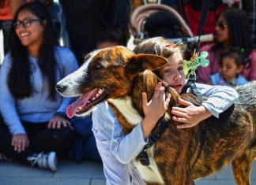
<svg viewBox="0 0 256 185">
<path fill-rule="evenodd" d="M 126 97 L 135 76 L 167 62 L 153 54 L 134 54 L 124 46 L 95 50 L 85 57 L 81 68 L 57 83 L 56 90 L 62 96 L 80 96 L 67 108 L 68 117 L 86 115 L 94 105 L 108 98 Z"/>
</svg>

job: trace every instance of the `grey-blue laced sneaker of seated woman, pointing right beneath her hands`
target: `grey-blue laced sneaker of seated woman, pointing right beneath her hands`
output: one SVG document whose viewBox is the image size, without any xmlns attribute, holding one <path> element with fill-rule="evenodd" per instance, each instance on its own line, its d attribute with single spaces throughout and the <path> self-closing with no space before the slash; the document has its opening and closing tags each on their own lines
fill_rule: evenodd
<svg viewBox="0 0 256 185">
<path fill-rule="evenodd" d="M 28 157 L 28 161 L 32 166 L 38 166 L 39 168 L 51 169 L 51 171 L 57 171 L 57 156 L 55 152 L 33 154 Z"/>
</svg>

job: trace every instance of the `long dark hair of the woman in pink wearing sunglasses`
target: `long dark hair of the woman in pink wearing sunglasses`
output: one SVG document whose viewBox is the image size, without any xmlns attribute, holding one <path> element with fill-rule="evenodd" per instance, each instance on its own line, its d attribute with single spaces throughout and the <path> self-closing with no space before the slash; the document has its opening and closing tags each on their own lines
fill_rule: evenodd
<svg viewBox="0 0 256 185">
<path fill-rule="evenodd" d="M 228 8 L 220 13 L 219 17 L 224 17 L 228 24 L 229 46 L 239 46 L 244 50 L 245 56 L 251 52 L 250 23 L 247 13 L 243 9 Z M 223 47 L 222 43 L 215 42 L 212 50 Z"/>
</svg>

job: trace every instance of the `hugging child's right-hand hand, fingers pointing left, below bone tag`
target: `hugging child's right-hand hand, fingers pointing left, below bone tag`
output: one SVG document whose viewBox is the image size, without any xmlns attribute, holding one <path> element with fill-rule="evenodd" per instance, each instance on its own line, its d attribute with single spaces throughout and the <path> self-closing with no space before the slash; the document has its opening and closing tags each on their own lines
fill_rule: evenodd
<svg viewBox="0 0 256 185">
<path fill-rule="evenodd" d="M 179 98 L 179 102 L 185 105 L 186 108 L 172 107 L 171 113 L 174 115 L 173 120 L 183 123 L 178 125 L 177 128 L 191 128 L 197 125 L 201 120 L 205 120 L 212 116 L 209 110 L 205 109 L 203 105 L 195 106 L 191 102 L 186 102 Z"/>
</svg>

